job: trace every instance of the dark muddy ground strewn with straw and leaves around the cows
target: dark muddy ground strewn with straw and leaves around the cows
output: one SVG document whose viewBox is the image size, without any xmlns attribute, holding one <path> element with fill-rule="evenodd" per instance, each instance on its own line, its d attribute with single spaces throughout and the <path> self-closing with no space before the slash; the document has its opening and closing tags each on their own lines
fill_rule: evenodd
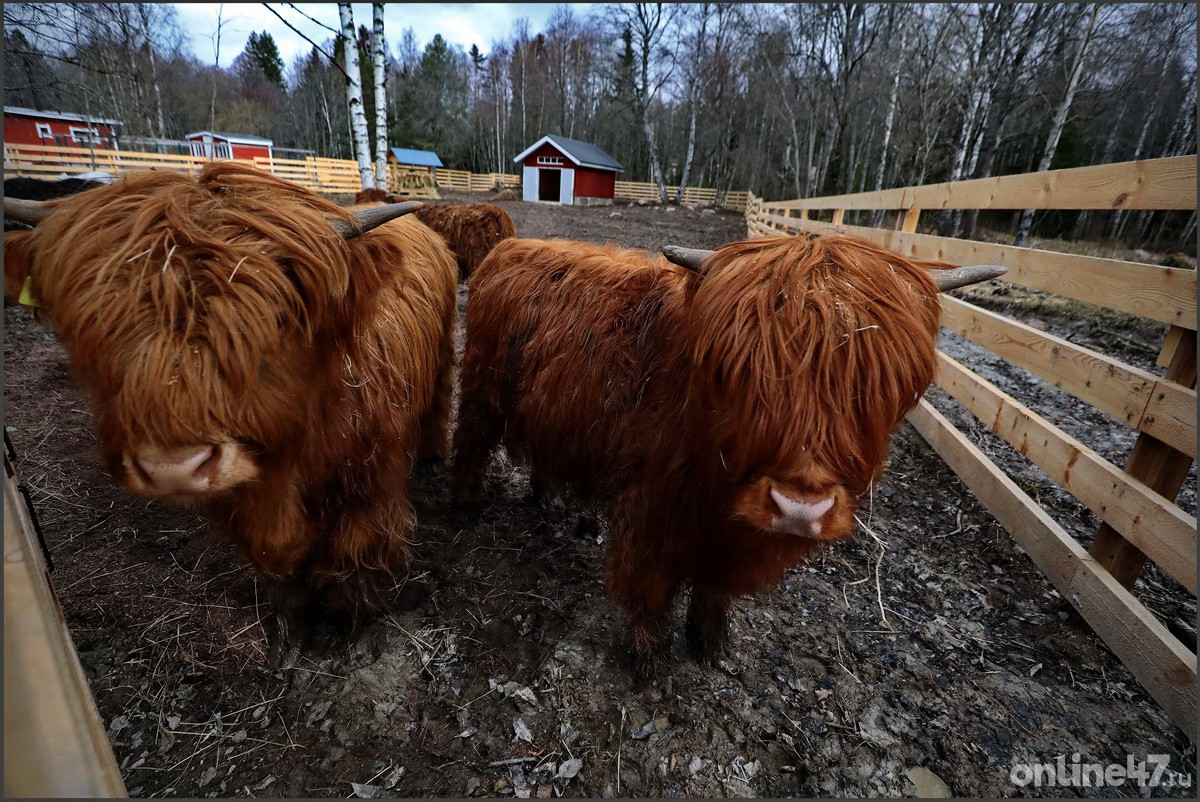
<svg viewBox="0 0 1200 802">
<path fill-rule="evenodd" d="M 520 237 L 658 249 L 745 235 L 727 211 L 502 205 Z M 1004 291 L 971 292 L 1158 370 L 1154 327 L 1080 321 Z M 1123 463 L 1123 426 L 943 337 Z M 17 477 L 131 796 L 1189 796 L 1012 780 L 1019 764 L 1075 753 L 1104 765 L 1165 754 L 1194 777 L 1195 752 L 907 424 L 852 540 L 738 605 L 719 665 L 691 660 L 677 636 L 667 674 L 635 687 L 605 598 L 602 526 L 569 502 L 544 511 L 503 455 L 478 521 L 455 509 L 445 475 L 418 480 L 415 561 L 395 610 L 358 644 L 275 671 L 263 586 L 198 517 L 110 484 L 88 402 L 24 307 L 5 310 L 4 397 Z M 1091 513 L 930 397 L 1086 545 Z M 1181 504 L 1194 513 L 1194 477 Z M 1136 593 L 1194 646 L 1193 597 L 1154 569 Z"/>
</svg>

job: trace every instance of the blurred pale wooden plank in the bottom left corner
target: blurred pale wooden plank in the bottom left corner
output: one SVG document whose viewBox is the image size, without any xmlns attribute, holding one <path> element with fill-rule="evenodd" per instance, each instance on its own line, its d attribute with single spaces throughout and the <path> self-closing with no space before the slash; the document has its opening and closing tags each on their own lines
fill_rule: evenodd
<svg viewBox="0 0 1200 802">
<path fill-rule="evenodd" d="M 6 798 L 127 796 L 5 459 Z"/>
</svg>

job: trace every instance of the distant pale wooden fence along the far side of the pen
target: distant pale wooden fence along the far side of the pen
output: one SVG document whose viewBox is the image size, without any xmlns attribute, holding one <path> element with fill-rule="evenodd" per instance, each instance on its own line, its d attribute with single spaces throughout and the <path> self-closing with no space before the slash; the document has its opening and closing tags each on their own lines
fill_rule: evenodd
<svg viewBox="0 0 1200 802">
<path fill-rule="evenodd" d="M 181 173 L 194 173 L 204 166 L 208 158 L 178 155 L 142 152 L 134 150 L 103 150 L 96 148 L 64 148 L 60 145 L 16 145 L 5 143 L 4 169 L 6 176 L 30 175 L 34 178 L 56 178 L 66 173 L 76 175 L 89 170 L 122 173 L 138 169 L 166 169 Z M 362 188 L 359 178 L 359 166 L 348 158 L 254 158 L 234 160 L 253 164 L 280 178 L 306 186 L 317 192 L 355 193 Z M 424 169 L 406 169 L 398 164 L 388 167 L 388 188 L 395 194 L 413 198 L 436 197 L 436 188 L 464 190 L 468 192 L 491 192 L 498 186 L 521 190 L 521 176 L 508 173 L 470 173 L 458 169 L 438 169 L 433 182 L 426 180 Z M 658 200 L 659 191 L 654 184 L 636 181 L 617 181 L 617 197 L 632 200 Z M 674 197 L 672 193 L 671 197 Z M 725 209 L 743 211 L 750 193 L 719 193 L 712 187 L 688 187 L 684 190 L 683 203 L 716 203 Z"/>
</svg>

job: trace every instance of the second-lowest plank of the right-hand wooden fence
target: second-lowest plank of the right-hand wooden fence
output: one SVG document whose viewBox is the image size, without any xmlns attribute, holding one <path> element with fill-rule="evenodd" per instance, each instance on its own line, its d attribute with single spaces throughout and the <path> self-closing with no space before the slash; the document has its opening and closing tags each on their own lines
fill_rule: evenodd
<svg viewBox="0 0 1200 802">
<path fill-rule="evenodd" d="M 1196 592 L 1196 519 L 960 363 L 937 354 L 937 384 L 1046 475 Z"/>
</svg>

